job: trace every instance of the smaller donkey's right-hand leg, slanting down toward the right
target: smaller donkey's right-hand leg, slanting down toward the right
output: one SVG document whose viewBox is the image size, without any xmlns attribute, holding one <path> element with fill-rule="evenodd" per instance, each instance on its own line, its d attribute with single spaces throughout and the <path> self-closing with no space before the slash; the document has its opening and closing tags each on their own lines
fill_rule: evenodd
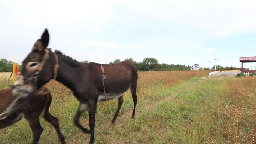
<svg viewBox="0 0 256 144">
<path fill-rule="evenodd" d="M 48 108 L 49 110 L 49 108 Z M 43 117 L 46 121 L 48 121 L 49 123 L 51 123 L 52 126 L 54 126 L 57 134 L 58 134 L 58 137 L 59 137 L 59 140 L 61 141 L 61 144 L 65 144 L 65 138 L 63 137 L 63 135 L 61 134 L 61 131 L 60 131 L 60 126 L 59 126 L 59 122 L 58 122 L 58 118 L 57 117 L 54 117 L 52 116 L 49 111 L 46 109 L 45 111 L 45 116 Z"/>
</svg>

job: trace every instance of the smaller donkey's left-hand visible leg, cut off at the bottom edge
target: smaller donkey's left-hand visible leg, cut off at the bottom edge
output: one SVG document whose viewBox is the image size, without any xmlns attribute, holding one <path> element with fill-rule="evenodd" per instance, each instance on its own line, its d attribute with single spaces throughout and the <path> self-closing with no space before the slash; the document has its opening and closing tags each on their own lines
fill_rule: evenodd
<svg viewBox="0 0 256 144">
<path fill-rule="evenodd" d="M 37 144 L 43 132 L 43 128 L 39 122 L 39 117 L 37 117 L 37 119 L 34 119 L 34 120 L 28 120 L 28 123 L 30 128 L 32 129 L 33 136 L 34 136 L 32 144 Z"/>
</svg>

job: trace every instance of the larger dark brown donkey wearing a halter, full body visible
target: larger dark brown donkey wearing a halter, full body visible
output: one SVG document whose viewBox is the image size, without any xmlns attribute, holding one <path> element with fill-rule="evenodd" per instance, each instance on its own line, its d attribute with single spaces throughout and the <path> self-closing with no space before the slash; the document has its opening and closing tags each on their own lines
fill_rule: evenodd
<svg viewBox="0 0 256 144">
<path fill-rule="evenodd" d="M 48 83 L 51 79 L 56 79 L 70 88 L 80 102 L 77 114 L 74 117 L 74 124 L 83 132 L 91 134 L 89 144 L 94 143 L 95 140 L 94 127 L 98 101 L 118 98 L 118 107 L 111 122 L 114 124 L 123 103 L 123 94 L 130 88 L 134 103 L 132 112 L 132 118 L 134 119 L 137 104 L 136 88 L 138 73 L 132 62 L 122 61 L 113 65 L 101 65 L 92 62 L 82 64 L 65 56 L 60 51 L 52 52 L 47 48 L 48 42 L 49 33 L 46 29 L 41 39 L 36 41 L 32 51 L 22 62 L 21 77 L 17 80 L 17 84 L 23 85 L 23 80 L 40 71 L 37 88 Z M 56 68 L 58 68 L 58 71 Z M 103 75 L 106 76 L 103 79 L 104 83 L 102 82 Z M 31 86 L 26 87 L 30 88 Z M 79 123 L 79 117 L 85 110 L 89 112 L 90 129 L 84 128 Z"/>
</svg>

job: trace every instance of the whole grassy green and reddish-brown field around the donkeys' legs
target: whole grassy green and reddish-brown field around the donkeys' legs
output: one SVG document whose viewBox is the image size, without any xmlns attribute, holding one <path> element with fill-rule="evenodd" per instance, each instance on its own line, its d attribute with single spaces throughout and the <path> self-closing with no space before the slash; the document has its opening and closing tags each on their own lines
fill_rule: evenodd
<svg viewBox="0 0 256 144">
<path fill-rule="evenodd" d="M 256 77 L 207 76 L 209 71 L 139 72 L 137 113 L 132 115 L 128 91 L 110 127 L 117 100 L 98 102 L 95 144 L 255 144 Z M 206 77 L 207 76 L 207 77 Z M 0 77 L 0 88 L 11 82 Z M 71 91 L 51 81 L 50 112 L 57 116 L 67 144 L 88 144 L 89 134 L 73 125 L 78 101 Z M 80 122 L 88 127 L 88 113 Z M 44 129 L 39 144 L 58 144 L 55 130 Z M 0 130 L 0 144 L 29 144 L 32 132 L 25 120 Z"/>
</svg>

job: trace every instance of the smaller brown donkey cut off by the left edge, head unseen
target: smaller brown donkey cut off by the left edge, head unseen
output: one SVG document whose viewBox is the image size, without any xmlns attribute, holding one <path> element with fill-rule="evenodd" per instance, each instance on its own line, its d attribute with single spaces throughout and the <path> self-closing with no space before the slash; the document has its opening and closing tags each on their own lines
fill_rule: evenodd
<svg viewBox="0 0 256 144">
<path fill-rule="evenodd" d="M 15 96 L 12 96 L 11 88 L 0 89 L 0 112 L 3 112 L 14 98 Z M 33 132 L 34 138 L 32 144 L 37 144 L 43 132 L 43 128 L 39 122 L 39 116 L 41 116 L 54 126 L 61 144 L 65 144 L 65 139 L 59 128 L 58 118 L 49 113 L 51 100 L 52 97 L 50 91 L 45 87 L 40 88 L 27 104 L 7 116 L 5 119 L 0 120 L 0 129 L 12 125 L 24 117 L 28 121 Z"/>
</svg>

